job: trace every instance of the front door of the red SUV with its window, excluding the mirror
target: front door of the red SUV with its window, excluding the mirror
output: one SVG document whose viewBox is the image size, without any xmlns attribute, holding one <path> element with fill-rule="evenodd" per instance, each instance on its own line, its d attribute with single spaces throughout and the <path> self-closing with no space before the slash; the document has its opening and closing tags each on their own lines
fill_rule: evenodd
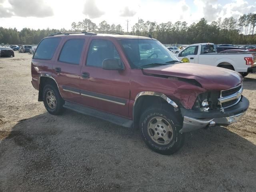
<svg viewBox="0 0 256 192">
<path fill-rule="evenodd" d="M 81 70 L 81 102 L 85 106 L 128 117 L 130 70 L 104 70 L 104 59 L 120 58 L 115 44 L 100 37 L 91 37 L 87 58 Z"/>
</svg>

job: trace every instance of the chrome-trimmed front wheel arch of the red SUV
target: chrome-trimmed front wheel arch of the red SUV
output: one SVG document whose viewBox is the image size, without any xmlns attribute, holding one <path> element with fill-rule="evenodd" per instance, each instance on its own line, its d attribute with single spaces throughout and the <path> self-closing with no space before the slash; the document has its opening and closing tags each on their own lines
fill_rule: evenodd
<svg viewBox="0 0 256 192">
<path fill-rule="evenodd" d="M 163 104 L 170 104 L 174 111 L 178 111 L 178 104 L 176 104 L 176 102 L 174 102 L 163 93 L 152 91 L 144 91 L 138 93 L 132 108 L 134 128 L 136 128 L 138 125 L 140 115 L 144 109 L 146 109 L 148 106 L 162 106 Z"/>
</svg>

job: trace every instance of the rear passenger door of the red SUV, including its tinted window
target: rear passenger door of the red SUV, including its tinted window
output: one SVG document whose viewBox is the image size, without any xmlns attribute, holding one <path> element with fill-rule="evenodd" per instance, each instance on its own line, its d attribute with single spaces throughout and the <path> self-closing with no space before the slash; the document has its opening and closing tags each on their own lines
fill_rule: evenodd
<svg viewBox="0 0 256 192">
<path fill-rule="evenodd" d="M 60 87 L 64 100 L 80 103 L 80 71 L 82 52 L 84 52 L 87 36 L 66 37 L 58 50 L 58 58 L 53 64 L 52 77 Z"/>
</svg>

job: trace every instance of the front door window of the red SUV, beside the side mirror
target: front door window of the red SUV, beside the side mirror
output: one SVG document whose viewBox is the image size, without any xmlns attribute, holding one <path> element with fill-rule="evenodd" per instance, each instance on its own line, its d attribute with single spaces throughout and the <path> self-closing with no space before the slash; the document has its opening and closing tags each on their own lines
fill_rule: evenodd
<svg viewBox="0 0 256 192">
<path fill-rule="evenodd" d="M 108 40 L 92 40 L 87 56 L 86 65 L 102 67 L 104 59 L 120 58 L 116 47 Z"/>
</svg>

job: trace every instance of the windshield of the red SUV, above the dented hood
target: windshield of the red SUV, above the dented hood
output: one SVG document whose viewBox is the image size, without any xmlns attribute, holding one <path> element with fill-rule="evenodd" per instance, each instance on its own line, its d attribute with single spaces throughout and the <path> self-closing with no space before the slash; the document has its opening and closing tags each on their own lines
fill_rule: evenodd
<svg viewBox="0 0 256 192">
<path fill-rule="evenodd" d="M 141 68 L 149 64 L 166 64 L 178 60 L 157 40 L 123 39 L 120 40 L 131 68 Z"/>
</svg>

